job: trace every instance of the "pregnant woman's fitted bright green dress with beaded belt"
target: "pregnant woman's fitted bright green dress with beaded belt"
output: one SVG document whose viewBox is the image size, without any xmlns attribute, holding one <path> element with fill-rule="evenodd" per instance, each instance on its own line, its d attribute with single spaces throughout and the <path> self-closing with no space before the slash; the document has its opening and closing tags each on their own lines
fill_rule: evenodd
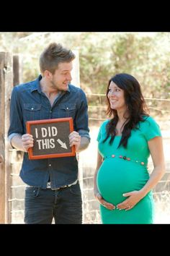
<svg viewBox="0 0 170 256">
<path fill-rule="evenodd" d="M 116 136 L 112 145 L 109 145 L 110 137 L 102 143 L 108 122 L 101 125 L 97 137 L 99 153 L 104 158 L 97 174 L 97 187 L 104 200 L 116 206 L 128 198 L 123 197 L 123 193 L 139 190 L 148 181 L 148 140 L 161 136 L 161 131 L 156 121 L 148 116 L 139 122 L 138 129 L 131 131 L 127 148 L 122 145 L 117 148 L 121 136 Z M 100 205 L 100 212 L 102 223 L 153 223 L 152 192 L 130 210 L 108 210 Z"/>
</svg>

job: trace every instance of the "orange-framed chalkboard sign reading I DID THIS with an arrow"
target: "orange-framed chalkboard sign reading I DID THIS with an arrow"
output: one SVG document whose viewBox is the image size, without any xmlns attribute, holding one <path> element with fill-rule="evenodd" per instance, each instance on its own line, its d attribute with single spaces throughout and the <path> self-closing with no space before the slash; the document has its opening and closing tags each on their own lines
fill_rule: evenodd
<svg viewBox="0 0 170 256">
<path fill-rule="evenodd" d="M 73 132 L 73 119 L 45 119 L 26 122 L 27 133 L 33 136 L 34 146 L 28 149 L 29 159 L 61 158 L 75 155 L 68 135 Z"/>
</svg>

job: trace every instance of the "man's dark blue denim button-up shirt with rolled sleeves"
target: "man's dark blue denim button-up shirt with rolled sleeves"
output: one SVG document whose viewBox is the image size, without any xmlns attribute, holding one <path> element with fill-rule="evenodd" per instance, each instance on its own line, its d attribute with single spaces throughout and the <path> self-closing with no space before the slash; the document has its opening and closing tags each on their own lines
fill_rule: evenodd
<svg viewBox="0 0 170 256">
<path fill-rule="evenodd" d="M 68 90 L 58 95 L 51 107 L 50 101 L 40 88 L 41 78 L 40 75 L 35 81 L 14 87 L 10 107 L 9 140 L 16 133 L 27 133 L 26 121 L 63 117 L 72 117 L 73 129 L 90 140 L 84 91 L 68 85 Z M 77 179 L 78 163 L 76 156 L 29 160 L 28 153 L 24 153 L 19 175 L 26 184 L 44 189 L 50 179 L 51 188 L 57 189 Z"/>
</svg>

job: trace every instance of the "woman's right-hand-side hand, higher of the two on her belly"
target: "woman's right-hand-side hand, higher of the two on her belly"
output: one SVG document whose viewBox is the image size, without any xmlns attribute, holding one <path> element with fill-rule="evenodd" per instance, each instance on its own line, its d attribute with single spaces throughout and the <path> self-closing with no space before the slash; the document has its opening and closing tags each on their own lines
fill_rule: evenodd
<svg viewBox="0 0 170 256">
<path fill-rule="evenodd" d="M 132 192 L 124 193 L 122 195 L 128 198 L 117 205 L 117 209 L 119 210 L 131 210 L 143 198 L 140 190 L 134 190 Z"/>
</svg>

